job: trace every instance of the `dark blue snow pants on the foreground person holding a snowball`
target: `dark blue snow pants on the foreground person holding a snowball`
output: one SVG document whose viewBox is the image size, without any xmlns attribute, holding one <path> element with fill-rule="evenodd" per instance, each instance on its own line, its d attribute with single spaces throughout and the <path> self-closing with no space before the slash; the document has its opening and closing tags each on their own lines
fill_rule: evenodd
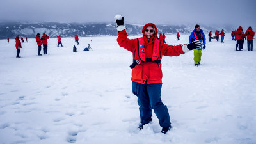
<svg viewBox="0 0 256 144">
<path fill-rule="evenodd" d="M 152 116 L 152 109 L 159 119 L 161 127 L 170 127 L 170 116 L 167 107 L 161 100 L 162 83 L 141 84 L 132 81 L 132 93 L 138 97 L 140 122 L 147 124 Z"/>
</svg>

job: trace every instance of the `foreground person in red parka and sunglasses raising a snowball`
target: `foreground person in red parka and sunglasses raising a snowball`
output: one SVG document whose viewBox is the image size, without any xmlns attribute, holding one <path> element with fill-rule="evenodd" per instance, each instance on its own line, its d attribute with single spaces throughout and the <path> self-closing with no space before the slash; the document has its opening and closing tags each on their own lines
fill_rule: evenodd
<svg viewBox="0 0 256 144">
<path fill-rule="evenodd" d="M 157 28 L 155 24 L 148 23 L 143 26 L 143 37 L 136 39 L 127 38 L 124 26 L 124 17 L 115 16 L 120 47 L 132 52 L 132 92 L 138 97 L 140 106 L 139 129 L 143 125 L 152 121 L 152 109 L 159 119 L 162 133 L 166 133 L 171 128 L 170 116 L 167 107 L 161 101 L 162 88 L 162 65 L 161 58 L 164 56 L 179 56 L 189 52 L 196 47 L 202 46 L 198 40 L 191 44 L 180 44 L 172 46 L 163 44 L 157 39 Z"/>
</svg>

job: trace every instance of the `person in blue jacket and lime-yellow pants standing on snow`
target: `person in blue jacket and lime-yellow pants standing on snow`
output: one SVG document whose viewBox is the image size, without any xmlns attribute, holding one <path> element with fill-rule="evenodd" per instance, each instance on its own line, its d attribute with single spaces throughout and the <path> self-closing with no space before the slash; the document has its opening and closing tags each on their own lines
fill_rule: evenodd
<svg viewBox="0 0 256 144">
<path fill-rule="evenodd" d="M 195 40 L 199 40 L 201 42 L 200 48 L 194 49 L 194 61 L 195 61 L 195 66 L 200 65 L 201 62 L 201 56 L 202 56 L 202 49 L 205 49 L 205 35 L 202 29 L 200 29 L 200 26 L 196 24 L 195 29 L 192 31 L 192 33 L 189 36 L 189 44 Z"/>
</svg>

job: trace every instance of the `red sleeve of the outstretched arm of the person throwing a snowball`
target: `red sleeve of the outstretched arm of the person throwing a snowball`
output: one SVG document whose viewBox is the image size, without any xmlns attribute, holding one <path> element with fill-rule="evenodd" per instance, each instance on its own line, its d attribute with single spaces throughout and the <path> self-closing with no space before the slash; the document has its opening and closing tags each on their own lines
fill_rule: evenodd
<svg viewBox="0 0 256 144">
<path fill-rule="evenodd" d="M 184 54 L 182 50 L 182 45 L 168 45 L 161 43 L 161 52 L 163 52 L 164 56 L 179 56 L 180 54 Z"/>
</svg>

